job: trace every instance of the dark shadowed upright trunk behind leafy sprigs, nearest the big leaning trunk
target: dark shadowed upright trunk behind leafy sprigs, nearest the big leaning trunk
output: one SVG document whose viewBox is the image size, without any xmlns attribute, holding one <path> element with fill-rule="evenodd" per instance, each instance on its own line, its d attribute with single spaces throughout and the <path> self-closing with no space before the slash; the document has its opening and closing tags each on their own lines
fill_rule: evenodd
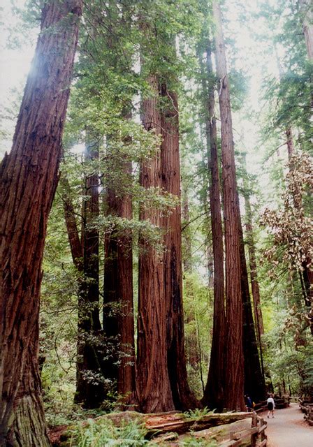
<svg viewBox="0 0 313 447">
<path fill-rule="evenodd" d="M 97 137 L 96 137 L 97 138 Z M 86 132 L 85 167 L 99 158 L 99 142 Z M 92 168 L 94 171 L 94 168 Z M 99 174 L 85 178 L 82 205 L 82 272 L 78 296 L 78 346 L 75 402 L 98 408 L 105 397 L 101 371 L 101 323 L 99 317 Z"/>
</svg>

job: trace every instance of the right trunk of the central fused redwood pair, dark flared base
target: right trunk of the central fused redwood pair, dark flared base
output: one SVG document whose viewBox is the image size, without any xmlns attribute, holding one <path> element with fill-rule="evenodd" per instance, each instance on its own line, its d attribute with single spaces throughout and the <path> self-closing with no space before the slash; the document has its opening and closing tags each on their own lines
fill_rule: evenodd
<svg viewBox="0 0 313 447">
<path fill-rule="evenodd" d="M 163 108 L 161 112 L 161 170 L 165 191 L 180 198 L 180 147 L 178 132 L 177 94 L 161 85 Z M 165 230 L 163 254 L 164 293 L 166 297 L 166 332 L 168 374 L 175 409 L 186 410 L 198 405 L 188 385 L 184 352 L 184 312 L 182 304 L 182 228 L 181 210 L 177 205 L 163 217 Z"/>
</svg>

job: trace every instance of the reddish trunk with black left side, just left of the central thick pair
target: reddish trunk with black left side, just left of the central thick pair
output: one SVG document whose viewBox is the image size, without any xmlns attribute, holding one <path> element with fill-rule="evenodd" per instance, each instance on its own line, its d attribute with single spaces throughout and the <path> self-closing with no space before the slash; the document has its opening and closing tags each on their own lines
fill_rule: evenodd
<svg viewBox="0 0 313 447">
<path fill-rule="evenodd" d="M 123 175 L 131 176 L 131 161 L 122 162 Z M 133 217 L 132 199 L 126 191 L 109 187 L 107 213 L 122 219 Z M 113 228 L 105 235 L 104 307 L 105 337 L 112 356 L 105 362 L 105 376 L 117 381 L 119 395 L 135 392 L 135 350 L 133 327 L 133 252 L 131 230 Z"/>
</svg>

